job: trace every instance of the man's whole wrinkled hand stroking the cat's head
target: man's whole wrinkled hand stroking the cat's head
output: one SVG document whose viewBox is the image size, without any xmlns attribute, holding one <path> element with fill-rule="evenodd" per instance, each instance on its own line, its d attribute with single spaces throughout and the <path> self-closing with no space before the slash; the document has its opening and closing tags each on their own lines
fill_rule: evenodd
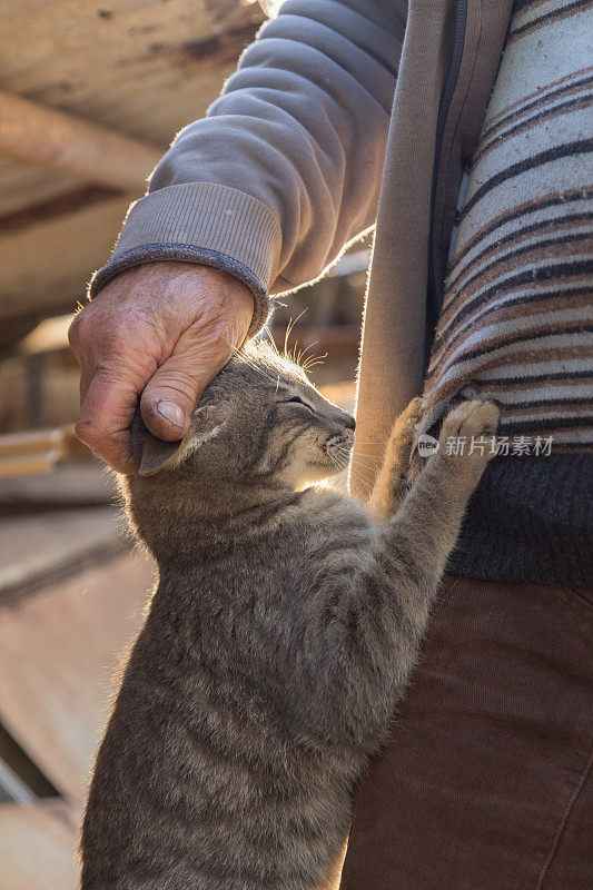
<svg viewBox="0 0 593 890">
<path fill-rule="evenodd" d="M 181 438 L 253 312 L 246 285 L 207 266 L 159 261 L 118 275 L 70 325 L 81 372 L 79 438 L 115 469 L 135 472 L 128 427 L 140 394 L 148 428 Z"/>
</svg>

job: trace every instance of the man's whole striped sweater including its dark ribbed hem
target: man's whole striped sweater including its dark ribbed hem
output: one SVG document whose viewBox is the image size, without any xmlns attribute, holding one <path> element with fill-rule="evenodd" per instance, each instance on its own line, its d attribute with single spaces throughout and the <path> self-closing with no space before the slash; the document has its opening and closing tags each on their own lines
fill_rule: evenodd
<svg viewBox="0 0 593 890">
<path fill-rule="evenodd" d="M 459 396 L 502 408 L 501 457 L 454 561 L 463 574 L 591 582 L 592 7 L 515 2 L 462 184 L 424 426 Z"/>
</svg>

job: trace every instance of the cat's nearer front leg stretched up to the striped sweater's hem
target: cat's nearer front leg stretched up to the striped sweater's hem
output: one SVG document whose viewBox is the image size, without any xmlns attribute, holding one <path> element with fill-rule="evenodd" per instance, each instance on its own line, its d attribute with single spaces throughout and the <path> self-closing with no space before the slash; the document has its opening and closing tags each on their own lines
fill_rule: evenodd
<svg viewBox="0 0 593 890">
<path fill-rule="evenodd" d="M 332 610 L 325 612 L 332 616 L 336 642 L 324 706 L 327 718 L 328 703 L 334 709 L 336 740 L 342 734 L 372 746 L 388 725 L 414 668 L 467 501 L 493 456 L 487 436 L 497 423 L 498 408 L 482 402 L 463 403 L 445 418 L 438 452 L 397 513 L 379 528 L 352 583 L 340 581 Z M 464 455 L 447 447 L 457 437 L 468 444 Z M 474 442 L 484 437 L 486 444 L 468 454 L 472 437 Z M 324 645 L 328 639 L 326 631 Z M 336 689 L 339 696 L 332 695 Z"/>
</svg>

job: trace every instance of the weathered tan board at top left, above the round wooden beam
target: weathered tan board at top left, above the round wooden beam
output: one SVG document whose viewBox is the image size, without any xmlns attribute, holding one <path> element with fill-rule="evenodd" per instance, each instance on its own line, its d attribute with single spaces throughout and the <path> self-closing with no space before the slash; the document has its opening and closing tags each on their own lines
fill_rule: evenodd
<svg viewBox="0 0 593 890">
<path fill-rule="evenodd" d="M 4 89 L 155 144 L 204 113 L 263 20 L 239 0 L 7 0 L 3 10 Z"/>
</svg>

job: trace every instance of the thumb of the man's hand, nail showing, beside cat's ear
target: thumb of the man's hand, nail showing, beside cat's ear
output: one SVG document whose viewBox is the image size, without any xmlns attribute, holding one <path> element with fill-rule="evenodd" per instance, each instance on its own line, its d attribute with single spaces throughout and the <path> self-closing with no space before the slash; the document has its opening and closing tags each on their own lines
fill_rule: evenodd
<svg viewBox="0 0 593 890">
<path fill-rule="evenodd" d="M 198 398 L 224 364 L 205 366 L 204 355 L 198 358 L 187 353 L 164 362 L 140 398 L 142 419 L 152 435 L 166 442 L 182 438 Z"/>
</svg>

